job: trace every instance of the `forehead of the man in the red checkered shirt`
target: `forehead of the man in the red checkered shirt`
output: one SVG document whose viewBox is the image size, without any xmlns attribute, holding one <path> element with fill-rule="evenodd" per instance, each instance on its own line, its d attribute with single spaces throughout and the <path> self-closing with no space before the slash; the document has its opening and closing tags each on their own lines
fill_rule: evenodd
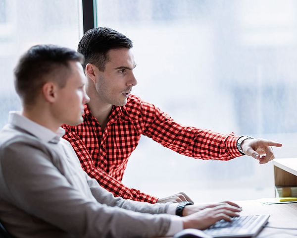
<svg viewBox="0 0 297 238">
<path fill-rule="evenodd" d="M 131 66 L 134 67 L 135 60 L 132 49 L 112 49 L 109 50 L 108 53 L 108 63 L 112 64 L 113 66 Z"/>
</svg>

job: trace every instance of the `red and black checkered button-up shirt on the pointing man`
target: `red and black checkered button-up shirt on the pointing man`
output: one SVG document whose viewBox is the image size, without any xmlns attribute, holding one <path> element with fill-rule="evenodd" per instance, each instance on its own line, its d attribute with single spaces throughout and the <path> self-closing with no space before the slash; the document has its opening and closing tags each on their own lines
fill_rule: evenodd
<svg viewBox="0 0 297 238">
<path fill-rule="evenodd" d="M 64 138 L 73 146 L 82 168 L 115 196 L 155 203 L 158 198 L 121 183 L 128 158 L 146 135 L 180 154 L 201 158 L 230 160 L 241 156 L 238 136 L 223 135 L 175 122 L 154 105 L 130 96 L 125 106 L 113 106 L 102 132 L 100 124 L 85 105 L 84 122 L 63 125 Z"/>
</svg>

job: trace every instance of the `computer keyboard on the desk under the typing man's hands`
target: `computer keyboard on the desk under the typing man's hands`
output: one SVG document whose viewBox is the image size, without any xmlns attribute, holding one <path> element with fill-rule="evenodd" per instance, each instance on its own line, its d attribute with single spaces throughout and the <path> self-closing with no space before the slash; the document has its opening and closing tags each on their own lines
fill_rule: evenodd
<svg viewBox="0 0 297 238">
<path fill-rule="evenodd" d="M 232 222 L 220 220 L 204 232 L 214 238 L 256 236 L 267 223 L 270 215 L 252 215 L 232 218 Z"/>
</svg>

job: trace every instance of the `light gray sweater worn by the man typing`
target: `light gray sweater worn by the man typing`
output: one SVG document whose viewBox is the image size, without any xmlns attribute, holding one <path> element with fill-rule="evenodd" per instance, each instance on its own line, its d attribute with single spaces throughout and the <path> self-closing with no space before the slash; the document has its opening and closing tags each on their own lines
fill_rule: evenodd
<svg viewBox="0 0 297 238">
<path fill-rule="evenodd" d="M 21 127 L 21 126 L 20 126 Z M 168 204 L 115 198 L 80 166 L 66 140 L 13 124 L 0 131 L 0 221 L 16 238 L 164 236 Z M 157 215 L 151 215 L 157 214 Z"/>
</svg>

